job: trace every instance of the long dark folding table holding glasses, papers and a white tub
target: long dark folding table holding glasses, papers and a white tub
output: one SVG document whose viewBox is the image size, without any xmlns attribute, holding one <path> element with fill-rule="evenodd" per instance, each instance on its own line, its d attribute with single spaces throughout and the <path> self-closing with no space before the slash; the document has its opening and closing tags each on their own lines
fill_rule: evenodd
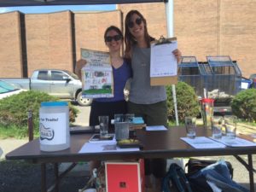
<svg viewBox="0 0 256 192">
<path fill-rule="evenodd" d="M 197 136 L 210 136 L 211 131 L 201 127 L 197 127 Z M 42 191 L 46 191 L 45 165 L 47 163 L 61 162 L 79 162 L 84 160 L 129 160 L 129 159 L 145 159 L 145 158 L 174 158 L 174 157 L 195 157 L 195 156 L 216 156 L 216 155 L 234 155 L 244 166 L 247 167 L 250 178 L 250 191 L 254 192 L 253 180 L 253 157 L 256 154 L 256 147 L 242 148 L 203 148 L 196 149 L 184 143 L 180 137 L 186 135 L 183 126 L 172 127 L 168 131 L 136 131 L 138 139 L 143 143 L 143 149 L 132 152 L 108 152 L 108 153 L 90 153 L 79 154 L 80 148 L 84 143 L 88 142 L 92 134 L 76 134 L 71 135 L 70 148 L 56 152 L 40 151 L 39 141 L 33 140 L 26 143 L 20 148 L 6 154 L 7 160 L 32 160 L 41 164 L 42 172 Z M 248 162 L 242 160 L 240 154 L 247 154 Z M 55 191 L 58 191 L 58 175 L 57 166 L 55 166 Z"/>
</svg>

